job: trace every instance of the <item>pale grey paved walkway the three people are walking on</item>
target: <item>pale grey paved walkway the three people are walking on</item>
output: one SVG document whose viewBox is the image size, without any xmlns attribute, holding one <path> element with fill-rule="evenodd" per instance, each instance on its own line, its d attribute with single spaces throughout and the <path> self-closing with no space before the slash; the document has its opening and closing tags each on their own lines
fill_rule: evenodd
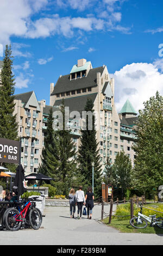
<svg viewBox="0 0 163 256">
<path fill-rule="evenodd" d="M 109 212 L 109 206 L 105 206 Z M 0 231 L 0 245 L 163 245 L 155 234 L 126 234 L 101 223 L 101 205 L 93 219 L 71 219 L 68 207 L 47 207 L 39 230 Z"/>
</svg>

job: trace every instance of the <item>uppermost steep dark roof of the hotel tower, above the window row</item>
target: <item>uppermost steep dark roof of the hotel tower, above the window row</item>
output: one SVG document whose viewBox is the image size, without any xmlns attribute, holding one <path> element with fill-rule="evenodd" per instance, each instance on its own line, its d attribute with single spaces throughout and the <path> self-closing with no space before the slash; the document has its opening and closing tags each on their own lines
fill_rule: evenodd
<svg viewBox="0 0 163 256">
<path fill-rule="evenodd" d="M 70 92 L 71 90 L 77 90 L 82 88 L 88 88 L 92 86 L 97 86 L 97 72 L 104 71 L 103 66 L 100 66 L 99 68 L 90 69 L 89 73 L 85 77 L 72 79 L 70 81 L 70 74 L 61 76 L 57 83 L 55 84 L 53 94 L 57 93 L 64 93 L 64 92 Z"/>
</svg>

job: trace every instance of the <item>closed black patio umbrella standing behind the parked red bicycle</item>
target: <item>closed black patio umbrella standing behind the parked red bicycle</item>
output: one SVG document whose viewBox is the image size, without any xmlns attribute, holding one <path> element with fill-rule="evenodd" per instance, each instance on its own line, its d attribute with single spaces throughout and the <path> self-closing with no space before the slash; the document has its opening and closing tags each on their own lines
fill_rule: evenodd
<svg viewBox="0 0 163 256">
<path fill-rule="evenodd" d="M 17 194 L 17 198 L 21 196 L 24 192 L 27 191 L 25 178 L 24 178 L 24 169 L 22 167 L 22 164 L 18 165 L 16 168 L 16 175 L 15 175 L 15 181 L 14 186 L 12 188 L 12 191 Z"/>
</svg>

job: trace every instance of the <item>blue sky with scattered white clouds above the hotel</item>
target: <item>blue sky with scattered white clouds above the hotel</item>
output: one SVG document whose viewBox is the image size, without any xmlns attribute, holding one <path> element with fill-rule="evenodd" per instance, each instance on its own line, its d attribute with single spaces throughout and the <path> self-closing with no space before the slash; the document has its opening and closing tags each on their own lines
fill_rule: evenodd
<svg viewBox="0 0 163 256">
<path fill-rule="evenodd" d="M 1 0 L 0 44 L 12 46 L 15 94 L 34 90 L 48 105 L 50 83 L 85 58 L 115 78 L 117 109 L 129 99 L 138 111 L 162 94 L 162 9 L 161 0 Z"/>
</svg>

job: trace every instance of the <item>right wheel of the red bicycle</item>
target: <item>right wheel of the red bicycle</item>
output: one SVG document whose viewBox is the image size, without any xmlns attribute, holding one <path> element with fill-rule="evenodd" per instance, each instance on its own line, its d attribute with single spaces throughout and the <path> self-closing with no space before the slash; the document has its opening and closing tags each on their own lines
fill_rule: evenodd
<svg viewBox="0 0 163 256">
<path fill-rule="evenodd" d="M 29 212 L 29 224 L 34 229 L 39 229 L 41 226 L 42 220 L 40 212 L 36 208 L 32 208 Z"/>
</svg>

